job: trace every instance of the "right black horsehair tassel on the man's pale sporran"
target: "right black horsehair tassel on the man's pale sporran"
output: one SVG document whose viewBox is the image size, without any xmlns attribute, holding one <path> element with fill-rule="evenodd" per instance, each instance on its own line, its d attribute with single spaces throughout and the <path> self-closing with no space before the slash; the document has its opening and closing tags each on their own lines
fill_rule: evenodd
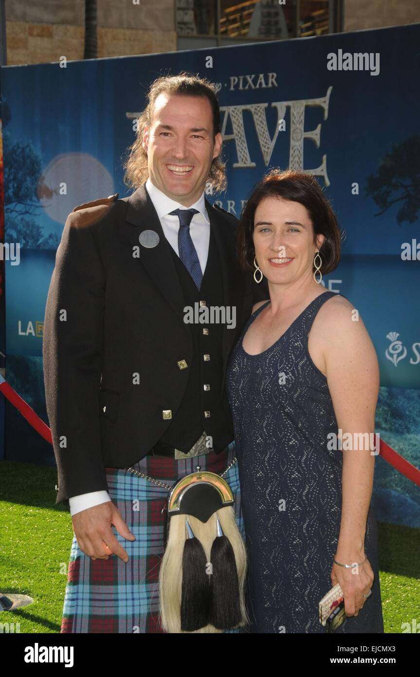
<svg viewBox="0 0 420 677">
<path fill-rule="evenodd" d="M 239 582 L 235 554 L 229 538 L 223 533 L 218 515 L 217 536 L 210 553 L 212 563 L 212 609 L 210 622 L 218 630 L 235 628 L 241 621 Z"/>
</svg>

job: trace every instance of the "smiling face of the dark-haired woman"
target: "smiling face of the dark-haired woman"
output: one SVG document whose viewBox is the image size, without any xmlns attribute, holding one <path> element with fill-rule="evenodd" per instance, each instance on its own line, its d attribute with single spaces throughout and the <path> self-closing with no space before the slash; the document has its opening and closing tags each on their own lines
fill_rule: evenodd
<svg viewBox="0 0 420 677">
<path fill-rule="evenodd" d="M 315 252 L 325 237 L 317 236 L 308 211 L 300 202 L 264 198 L 254 216 L 254 248 L 258 267 L 274 284 L 312 278 Z"/>
</svg>

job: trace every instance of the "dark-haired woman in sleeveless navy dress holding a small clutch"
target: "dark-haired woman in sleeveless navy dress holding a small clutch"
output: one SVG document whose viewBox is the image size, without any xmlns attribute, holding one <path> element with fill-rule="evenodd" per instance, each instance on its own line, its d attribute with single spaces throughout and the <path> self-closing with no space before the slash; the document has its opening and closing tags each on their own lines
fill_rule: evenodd
<svg viewBox="0 0 420 677">
<path fill-rule="evenodd" d="M 277 170 L 262 179 L 238 253 L 270 294 L 227 373 L 250 630 L 325 632 L 319 600 L 339 583 L 346 619 L 336 632 L 383 632 L 371 506 L 379 370 L 357 309 L 319 284 L 340 259 L 340 230 L 316 179 Z"/>
</svg>

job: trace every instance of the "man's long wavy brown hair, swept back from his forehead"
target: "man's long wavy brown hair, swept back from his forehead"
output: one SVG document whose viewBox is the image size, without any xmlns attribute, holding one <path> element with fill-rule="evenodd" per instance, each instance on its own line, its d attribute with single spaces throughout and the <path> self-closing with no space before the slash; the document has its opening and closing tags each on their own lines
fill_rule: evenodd
<svg viewBox="0 0 420 677">
<path fill-rule="evenodd" d="M 179 73 L 179 75 L 164 75 L 158 78 L 151 83 L 149 87 L 146 97 L 147 106 L 139 118 L 136 139 L 126 151 L 126 159 L 124 160 L 123 165 L 125 170 L 124 181 L 126 185 L 132 186 L 133 188 L 138 188 L 139 185 L 147 181 L 147 178 L 149 177 L 147 153 L 141 144 L 146 125 L 147 129 L 150 129 L 151 117 L 156 99 L 162 93 L 177 96 L 206 97 L 212 108 L 213 139 L 216 134 L 220 132 L 220 110 L 218 107 L 218 100 L 216 92 L 214 91 L 214 86 L 209 80 L 185 71 Z M 225 190 L 227 185 L 226 165 L 220 155 L 212 160 L 207 181 L 212 184 L 212 190 L 214 192 Z"/>
</svg>

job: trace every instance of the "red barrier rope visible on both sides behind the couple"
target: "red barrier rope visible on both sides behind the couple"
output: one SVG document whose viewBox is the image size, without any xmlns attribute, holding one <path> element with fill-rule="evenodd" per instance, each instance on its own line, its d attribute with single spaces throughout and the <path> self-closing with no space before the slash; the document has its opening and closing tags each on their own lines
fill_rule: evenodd
<svg viewBox="0 0 420 677">
<path fill-rule="evenodd" d="M 28 423 L 34 428 L 44 439 L 47 440 L 50 444 L 53 443 L 51 437 L 51 430 L 49 427 L 35 414 L 34 410 L 16 393 L 16 391 L 7 383 L 3 381 L 0 383 L 0 393 L 3 393 L 5 397 L 11 402 L 18 411 L 26 418 Z M 413 466 L 412 463 L 403 458 L 398 452 L 396 452 L 389 444 L 379 440 L 379 454 L 384 458 L 393 468 L 398 470 L 398 473 L 401 473 L 409 479 L 411 482 L 420 486 L 420 470 Z"/>
</svg>

